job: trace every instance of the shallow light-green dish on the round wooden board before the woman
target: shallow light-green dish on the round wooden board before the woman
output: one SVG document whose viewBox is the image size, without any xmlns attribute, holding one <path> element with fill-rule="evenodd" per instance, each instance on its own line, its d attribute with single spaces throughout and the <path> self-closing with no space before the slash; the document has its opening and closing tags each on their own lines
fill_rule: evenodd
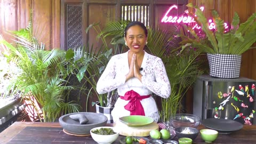
<svg viewBox="0 0 256 144">
<path fill-rule="evenodd" d="M 153 123 L 154 119 L 147 116 L 132 115 L 132 116 L 120 117 L 119 121 L 121 121 L 122 123 L 128 126 L 139 127 L 139 126 L 145 126 Z"/>
</svg>

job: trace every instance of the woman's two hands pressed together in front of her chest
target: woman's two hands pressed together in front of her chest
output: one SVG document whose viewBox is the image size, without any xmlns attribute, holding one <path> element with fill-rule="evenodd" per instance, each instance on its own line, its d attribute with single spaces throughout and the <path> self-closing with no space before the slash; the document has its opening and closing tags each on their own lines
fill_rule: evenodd
<svg viewBox="0 0 256 144">
<path fill-rule="evenodd" d="M 132 60 L 130 63 L 129 73 L 126 74 L 126 81 L 128 81 L 132 77 L 137 77 L 141 81 L 142 75 L 140 74 L 140 67 L 137 62 L 136 54 L 132 55 Z"/>
</svg>

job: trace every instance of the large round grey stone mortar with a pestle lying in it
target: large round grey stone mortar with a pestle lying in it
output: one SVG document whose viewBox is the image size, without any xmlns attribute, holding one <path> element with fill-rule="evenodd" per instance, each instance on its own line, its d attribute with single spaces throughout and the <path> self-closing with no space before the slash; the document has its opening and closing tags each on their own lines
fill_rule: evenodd
<svg viewBox="0 0 256 144">
<path fill-rule="evenodd" d="M 74 114 L 83 114 L 87 119 L 89 119 L 89 121 L 86 124 L 80 124 L 78 120 L 74 120 L 69 117 Z M 91 129 L 94 127 L 105 126 L 107 121 L 107 116 L 89 112 L 71 113 L 59 118 L 61 127 L 72 134 L 90 134 Z"/>
</svg>

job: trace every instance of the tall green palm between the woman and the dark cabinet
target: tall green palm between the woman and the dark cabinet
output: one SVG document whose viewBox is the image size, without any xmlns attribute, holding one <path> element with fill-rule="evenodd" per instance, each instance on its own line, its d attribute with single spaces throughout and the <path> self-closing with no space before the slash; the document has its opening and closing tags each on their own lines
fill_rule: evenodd
<svg viewBox="0 0 256 144">
<path fill-rule="evenodd" d="M 174 35 L 186 35 L 184 33 L 182 25 L 174 25 L 169 30 L 148 28 L 148 52 L 163 60 L 171 84 L 170 97 L 161 98 L 159 115 L 162 122 L 169 121 L 171 115 L 180 112 L 182 98 L 197 76 L 203 74 L 201 66 L 204 59 L 199 58 L 202 52 L 193 47 L 182 52 L 178 49 L 182 47 L 182 43 L 179 44 L 181 39 Z"/>
</svg>

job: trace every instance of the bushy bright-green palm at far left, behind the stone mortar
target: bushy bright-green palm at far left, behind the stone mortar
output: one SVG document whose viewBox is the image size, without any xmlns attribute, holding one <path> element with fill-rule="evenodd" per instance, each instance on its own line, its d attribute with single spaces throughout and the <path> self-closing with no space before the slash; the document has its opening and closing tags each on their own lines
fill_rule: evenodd
<svg viewBox="0 0 256 144">
<path fill-rule="evenodd" d="M 62 114 L 78 112 L 79 105 L 67 102 L 66 93 L 73 87 L 67 86 L 65 80 L 69 75 L 65 70 L 66 52 L 46 50 L 43 43 L 39 44 L 33 36 L 31 21 L 26 29 L 12 32 L 16 39 L 13 45 L 4 39 L 0 42 L 9 52 L 4 56 L 19 68 L 11 83 L 11 94 L 21 92 L 22 99 L 33 105 L 41 122 L 54 122 Z"/>
</svg>

